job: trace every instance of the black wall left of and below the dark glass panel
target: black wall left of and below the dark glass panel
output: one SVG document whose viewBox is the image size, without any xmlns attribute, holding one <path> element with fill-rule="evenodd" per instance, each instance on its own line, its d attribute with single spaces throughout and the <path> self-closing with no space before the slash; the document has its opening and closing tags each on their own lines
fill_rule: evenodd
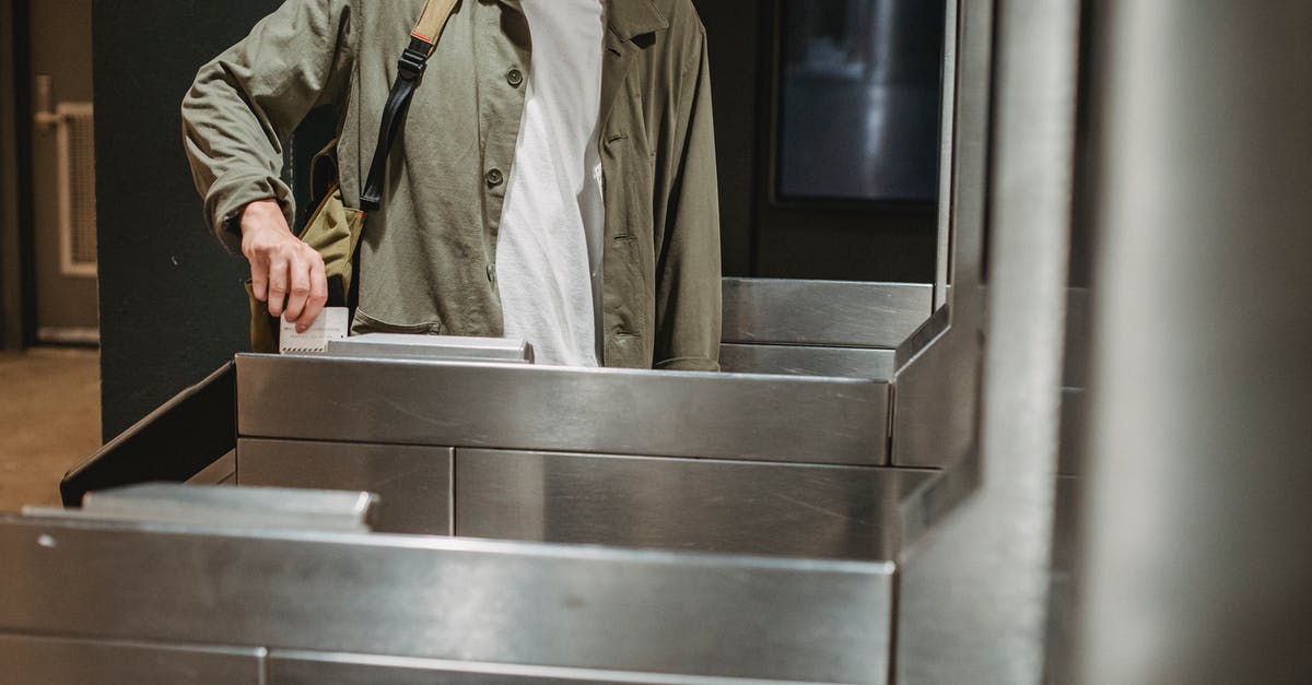
<svg viewBox="0 0 1312 685">
<path fill-rule="evenodd" d="M 710 45 L 724 276 L 933 281 L 933 203 L 789 203 L 771 197 L 773 63 L 782 0 L 693 4 Z"/>
</svg>

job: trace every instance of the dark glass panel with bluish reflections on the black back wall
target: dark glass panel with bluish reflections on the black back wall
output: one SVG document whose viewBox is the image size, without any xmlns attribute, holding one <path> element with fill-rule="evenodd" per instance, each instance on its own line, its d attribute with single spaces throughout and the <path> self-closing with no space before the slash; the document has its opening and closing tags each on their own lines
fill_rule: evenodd
<svg viewBox="0 0 1312 685">
<path fill-rule="evenodd" d="M 945 3 L 785 0 L 783 199 L 934 201 Z"/>
</svg>

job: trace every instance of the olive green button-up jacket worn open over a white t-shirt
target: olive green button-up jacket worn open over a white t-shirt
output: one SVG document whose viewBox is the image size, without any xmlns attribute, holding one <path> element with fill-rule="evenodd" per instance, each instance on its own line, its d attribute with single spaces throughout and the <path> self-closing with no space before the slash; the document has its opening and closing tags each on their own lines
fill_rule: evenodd
<svg viewBox="0 0 1312 685">
<path fill-rule="evenodd" d="M 203 66 L 182 129 L 206 217 L 240 249 L 247 203 L 277 198 L 282 142 L 335 105 L 357 207 L 383 104 L 424 0 L 289 0 Z M 496 244 L 531 45 L 517 0 L 462 0 L 365 219 L 352 329 L 501 335 Z M 690 0 L 609 0 L 600 123 L 604 363 L 716 370 L 720 244 L 706 33 Z"/>
</svg>

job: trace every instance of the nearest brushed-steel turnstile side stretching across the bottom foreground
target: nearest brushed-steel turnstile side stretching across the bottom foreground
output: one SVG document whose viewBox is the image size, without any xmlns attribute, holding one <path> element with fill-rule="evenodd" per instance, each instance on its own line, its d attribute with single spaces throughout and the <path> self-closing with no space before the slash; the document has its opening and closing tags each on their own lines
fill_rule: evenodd
<svg viewBox="0 0 1312 685">
<path fill-rule="evenodd" d="M 222 488 L 241 495 L 224 516 L 215 488 L 169 488 L 0 516 L 0 681 L 882 682 L 888 671 L 883 560 L 307 529 L 289 512 L 349 524 L 361 497 Z M 197 496 L 206 521 L 178 507 Z"/>
</svg>

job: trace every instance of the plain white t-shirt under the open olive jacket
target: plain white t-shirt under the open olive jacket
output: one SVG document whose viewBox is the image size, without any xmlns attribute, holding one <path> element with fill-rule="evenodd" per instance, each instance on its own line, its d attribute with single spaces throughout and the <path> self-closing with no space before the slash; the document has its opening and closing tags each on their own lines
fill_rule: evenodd
<svg viewBox="0 0 1312 685">
<path fill-rule="evenodd" d="M 538 363 L 597 366 L 605 206 L 604 0 L 522 0 L 533 37 L 496 274 L 506 337 Z"/>
</svg>

